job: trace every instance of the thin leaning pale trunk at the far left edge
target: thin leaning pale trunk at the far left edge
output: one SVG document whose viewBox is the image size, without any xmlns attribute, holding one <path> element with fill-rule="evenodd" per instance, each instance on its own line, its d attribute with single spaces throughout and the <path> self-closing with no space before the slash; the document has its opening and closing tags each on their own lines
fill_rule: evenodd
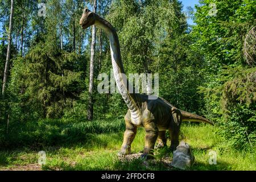
<svg viewBox="0 0 256 182">
<path fill-rule="evenodd" d="M 13 0 L 11 0 L 11 14 L 10 14 L 10 23 L 9 23 L 8 47 L 7 47 L 7 54 L 6 54 L 5 73 L 3 75 L 3 89 L 2 89 L 3 96 L 5 94 L 6 81 L 7 81 L 8 69 L 9 69 L 9 61 L 10 61 L 10 55 L 11 55 L 11 32 L 13 30 L 13 11 L 14 11 Z"/>
</svg>

